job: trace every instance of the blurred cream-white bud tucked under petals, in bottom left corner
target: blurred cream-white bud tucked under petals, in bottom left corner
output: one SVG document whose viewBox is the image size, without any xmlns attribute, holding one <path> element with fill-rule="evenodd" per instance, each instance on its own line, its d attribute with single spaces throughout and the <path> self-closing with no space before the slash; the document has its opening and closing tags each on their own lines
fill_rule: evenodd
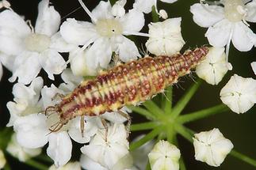
<svg viewBox="0 0 256 170">
<path fill-rule="evenodd" d="M 11 141 L 8 143 L 7 152 L 10 153 L 13 157 L 17 157 L 17 159 L 21 162 L 25 162 L 29 160 L 31 157 L 36 157 L 42 151 L 42 149 L 29 149 L 22 147 L 17 143 L 16 134 L 13 134 Z"/>
</svg>

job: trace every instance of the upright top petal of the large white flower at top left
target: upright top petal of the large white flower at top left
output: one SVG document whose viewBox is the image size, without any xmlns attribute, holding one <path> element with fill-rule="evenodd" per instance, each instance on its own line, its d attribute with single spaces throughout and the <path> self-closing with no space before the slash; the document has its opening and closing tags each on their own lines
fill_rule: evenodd
<svg viewBox="0 0 256 170">
<path fill-rule="evenodd" d="M 49 6 L 49 0 L 42 0 L 38 5 L 38 17 L 36 19 L 36 33 L 52 36 L 58 31 L 60 15 L 53 6 Z"/>
</svg>

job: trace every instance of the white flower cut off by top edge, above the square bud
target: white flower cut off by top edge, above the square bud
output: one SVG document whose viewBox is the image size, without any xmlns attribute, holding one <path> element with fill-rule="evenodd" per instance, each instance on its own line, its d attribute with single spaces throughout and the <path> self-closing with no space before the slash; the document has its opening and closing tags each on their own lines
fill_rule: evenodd
<svg viewBox="0 0 256 170">
<path fill-rule="evenodd" d="M 173 3 L 177 2 L 177 0 L 160 0 L 161 2 L 166 3 Z M 136 0 L 133 4 L 133 8 L 136 10 L 139 10 L 143 13 L 150 13 L 152 10 L 152 7 L 155 6 L 156 13 L 159 14 L 159 17 L 162 17 L 163 19 L 166 19 L 168 16 L 166 16 L 166 11 L 163 9 L 160 9 L 160 11 L 157 9 L 157 0 Z M 164 11 L 164 12 L 163 12 Z"/>
</svg>

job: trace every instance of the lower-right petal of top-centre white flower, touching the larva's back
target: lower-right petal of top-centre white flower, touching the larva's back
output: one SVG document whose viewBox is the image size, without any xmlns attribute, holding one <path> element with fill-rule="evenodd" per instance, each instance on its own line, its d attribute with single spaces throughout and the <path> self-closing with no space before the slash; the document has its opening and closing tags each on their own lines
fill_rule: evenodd
<svg viewBox="0 0 256 170">
<path fill-rule="evenodd" d="M 117 48 L 119 57 L 123 62 L 129 62 L 140 57 L 136 44 L 128 38 L 124 37 L 124 40 L 118 44 Z"/>
</svg>

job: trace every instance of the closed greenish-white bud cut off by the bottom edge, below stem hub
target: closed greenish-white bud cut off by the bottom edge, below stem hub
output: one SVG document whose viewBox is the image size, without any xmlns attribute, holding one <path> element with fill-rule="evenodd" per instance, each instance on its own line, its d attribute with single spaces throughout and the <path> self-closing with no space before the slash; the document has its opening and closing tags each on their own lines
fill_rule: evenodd
<svg viewBox="0 0 256 170">
<path fill-rule="evenodd" d="M 180 150 L 166 141 L 159 141 L 148 154 L 152 170 L 178 170 Z"/>
</svg>

